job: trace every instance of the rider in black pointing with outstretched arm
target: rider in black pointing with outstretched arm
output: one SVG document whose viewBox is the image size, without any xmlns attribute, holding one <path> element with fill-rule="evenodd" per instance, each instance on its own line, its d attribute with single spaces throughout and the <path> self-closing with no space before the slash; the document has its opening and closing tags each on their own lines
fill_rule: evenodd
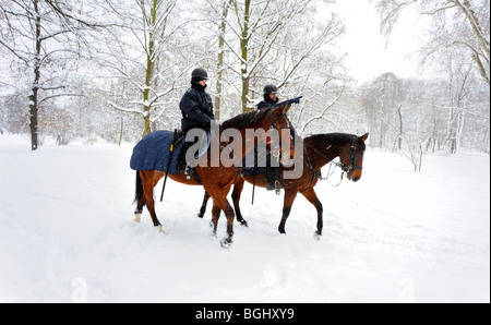
<svg viewBox="0 0 491 325">
<path fill-rule="evenodd" d="M 262 100 L 261 103 L 258 104 L 258 109 L 262 110 L 265 108 L 270 108 L 272 106 L 280 106 L 280 105 L 285 105 L 285 104 L 300 104 L 300 98 L 302 97 L 296 97 L 283 103 L 279 103 L 279 98 L 278 98 L 278 88 L 273 85 L 273 84 L 268 84 L 266 86 L 264 86 L 263 89 L 263 95 L 264 95 L 264 100 Z M 290 128 L 290 135 L 292 139 L 295 139 L 297 135 L 297 133 L 295 132 L 295 128 L 291 124 L 291 122 L 289 121 L 289 128 Z M 267 181 L 267 186 L 266 190 L 267 191 L 276 191 L 276 194 L 279 194 L 279 190 L 283 189 L 282 185 L 282 170 L 279 167 L 279 164 L 275 164 L 277 167 L 272 166 L 272 160 L 275 159 L 272 157 L 271 155 L 271 149 L 266 151 L 266 181 Z M 277 159 L 276 159 L 277 161 Z"/>
</svg>

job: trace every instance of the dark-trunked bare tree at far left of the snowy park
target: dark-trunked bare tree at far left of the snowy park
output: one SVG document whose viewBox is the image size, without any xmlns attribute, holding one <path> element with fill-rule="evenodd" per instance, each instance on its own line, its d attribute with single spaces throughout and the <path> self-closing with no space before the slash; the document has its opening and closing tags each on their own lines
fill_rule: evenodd
<svg viewBox="0 0 491 325">
<path fill-rule="evenodd" d="M 0 45 L 7 48 L 17 67 L 32 73 L 28 109 L 31 148 L 39 147 L 40 105 L 49 99 L 76 94 L 65 92 L 64 80 L 48 72 L 67 67 L 68 57 L 81 56 L 87 48 L 85 34 L 103 27 L 96 17 L 84 15 L 82 4 L 71 0 L 1 0 Z"/>
</svg>

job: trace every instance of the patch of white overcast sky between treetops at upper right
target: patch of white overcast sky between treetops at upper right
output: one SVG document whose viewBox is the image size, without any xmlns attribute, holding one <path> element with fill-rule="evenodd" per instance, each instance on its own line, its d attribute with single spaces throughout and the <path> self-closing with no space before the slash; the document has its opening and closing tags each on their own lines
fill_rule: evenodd
<svg viewBox="0 0 491 325">
<path fill-rule="evenodd" d="M 422 19 L 411 12 L 402 15 L 386 45 L 380 34 L 380 17 L 369 0 L 337 0 L 336 8 L 347 29 L 337 44 L 348 53 L 346 65 L 356 80 L 371 81 L 384 72 L 399 77 L 421 73 L 414 53 L 421 47 Z"/>
</svg>

